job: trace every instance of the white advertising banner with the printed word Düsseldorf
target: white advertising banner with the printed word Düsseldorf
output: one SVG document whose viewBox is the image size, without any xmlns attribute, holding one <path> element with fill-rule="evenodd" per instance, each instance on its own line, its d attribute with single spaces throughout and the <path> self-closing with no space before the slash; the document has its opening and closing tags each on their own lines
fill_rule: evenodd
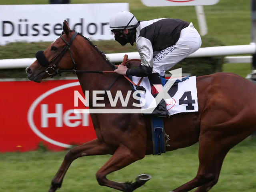
<svg viewBox="0 0 256 192">
<path fill-rule="evenodd" d="M 129 11 L 129 4 L 1 5 L 0 44 L 54 41 L 64 20 L 87 38 L 111 40 L 114 35 L 108 30 L 109 19 L 119 11 Z"/>
</svg>

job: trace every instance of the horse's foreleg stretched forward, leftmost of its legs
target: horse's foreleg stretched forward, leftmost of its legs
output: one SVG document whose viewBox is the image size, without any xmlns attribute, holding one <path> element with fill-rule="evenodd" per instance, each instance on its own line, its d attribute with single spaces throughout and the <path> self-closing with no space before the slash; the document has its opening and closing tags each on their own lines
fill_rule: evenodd
<svg viewBox="0 0 256 192">
<path fill-rule="evenodd" d="M 61 187 L 63 178 L 70 164 L 77 158 L 82 156 L 104 155 L 108 154 L 108 146 L 104 142 L 94 139 L 86 144 L 71 149 L 65 156 L 58 172 L 52 179 L 52 185 L 49 192 L 55 192 Z"/>
</svg>

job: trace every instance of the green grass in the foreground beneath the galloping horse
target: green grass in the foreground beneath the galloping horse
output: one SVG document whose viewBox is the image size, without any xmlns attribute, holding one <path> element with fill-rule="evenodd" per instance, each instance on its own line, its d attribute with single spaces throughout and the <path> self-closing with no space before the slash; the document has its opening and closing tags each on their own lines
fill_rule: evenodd
<svg viewBox="0 0 256 192">
<path fill-rule="evenodd" d="M 212 192 L 256 191 L 256 140 L 246 139 L 227 155 L 220 180 Z M 209 152 L 210 153 L 210 152 Z M 66 152 L 27 152 L 0 154 L 1 192 L 46 192 Z M 113 192 L 99 186 L 96 171 L 110 158 L 83 157 L 75 160 L 68 170 L 60 192 Z M 152 179 L 137 191 L 170 191 L 196 175 L 198 144 L 161 156 L 146 156 L 143 160 L 110 174 L 117 182 L 131 181 L 138 174 L 148 173 Z"/>
</svg>

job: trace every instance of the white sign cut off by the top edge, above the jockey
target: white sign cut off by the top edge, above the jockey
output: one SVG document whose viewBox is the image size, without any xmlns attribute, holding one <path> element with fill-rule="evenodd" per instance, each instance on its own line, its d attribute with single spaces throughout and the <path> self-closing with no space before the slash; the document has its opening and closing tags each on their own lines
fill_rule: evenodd
<svg viewBox="0 0 256 192">
<path fill-rule="evenodd" d="M 150 7 L 214 5 L 219 1 L 220 0 L 141 0 L 144 5 Z"/>
</svg>

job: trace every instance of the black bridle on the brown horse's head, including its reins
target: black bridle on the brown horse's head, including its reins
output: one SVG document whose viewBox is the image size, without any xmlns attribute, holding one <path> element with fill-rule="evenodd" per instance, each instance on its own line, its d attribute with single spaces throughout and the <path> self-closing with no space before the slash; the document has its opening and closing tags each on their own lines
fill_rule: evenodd
<svg viewBox="0 0 256 192">
<path fill-rule="evenodd" d="M 64 46 L 64 48 L 61 50 L 61 52 L 56 55 L 50 62 L 48 62 L 48 59 L 44 56 L 44 51 L 38 51 L 36 53 L 36 59 L 38 60 L 39 64 L 42 67 L 47 67 L 46 68 L 46 73 L 48 75 L 50 75 L 50 77 L 52 78 L 54 74 L 57 74 L 59 76 L 62 76 L 62 72 L 73 72 L 73 73 L 114 73 L 114 71 L 88 71 L 88 70 L 75 70 L 74 67 L 76 65 L 76 62 L 74 61 L 74 58 L 72 56 L 71 53 L 71 49 L 70 46 L 72 45 L 72 42 L 74 41 L 74 39 L 76 38 L 76 36 L 79 34 L 78 32 L 74 32 L 74 34 L 72 35 L 71 39 L 69 42 L 67 42 L 66 40 L 64 40 L 64 38 L 62 37 L 62 35 L 64 34 L 64 32 L 62 32 L 62 34 L 60 35 L 61 40 L 66 43 L 66 46 Z M 79 34 L 81 35 L 81 34 Z M 82 36 L 82 35 L 81 35 Z M 84 36 L 82 36 L 84 37 Z M 85 38 L 85 37 L 84 37 Z M 86 40 L 90 41 L 90 39 L 85 38 Z M 97 47 L 97 46 L 95 46 Z M 72 70 L 56 70 L 56 66 L 58 65 L 58 63 L 60 62 L 61 58 L 64 56 L 64 54 L 66 53 L 66 51 L 69 50 L 70 53 L 70 57 L 73 63 L 73 69 Z M 58 58 L 58 60 L 53 64 L 53 66 L 49 66 L 49 64 L 53 63 L 56 59 Z M 105 58 L 105 60 L 107 60 L 107 58 Z M 108 61 L 108 60 L 107 60 Z M 111 68 L 116 69 L 116 66 L 111 65 Z"/>
</svg>

